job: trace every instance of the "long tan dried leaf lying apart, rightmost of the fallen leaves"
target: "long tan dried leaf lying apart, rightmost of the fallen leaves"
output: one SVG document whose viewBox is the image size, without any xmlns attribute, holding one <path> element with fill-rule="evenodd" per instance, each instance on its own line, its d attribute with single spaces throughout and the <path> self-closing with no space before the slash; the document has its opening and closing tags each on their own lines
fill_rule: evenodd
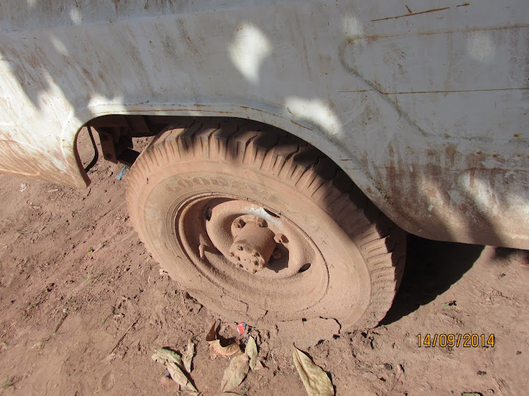
<svg viewBox="0 0 529 396">
<path fill-rule="evenodd" d="M 311 358 L 294 347 L 294 363 L 308 396 L 334 396 L 331 380 Z"/>
</svg>

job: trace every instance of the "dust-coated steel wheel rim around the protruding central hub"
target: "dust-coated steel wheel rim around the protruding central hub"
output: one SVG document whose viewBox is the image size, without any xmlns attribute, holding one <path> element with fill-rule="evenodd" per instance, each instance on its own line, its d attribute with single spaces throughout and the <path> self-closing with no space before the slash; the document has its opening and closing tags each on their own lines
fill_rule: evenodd
<svg viewBox="0 0 529 396">
<path fill-rule="evenodd" d="M 208 220 L 208 208 L 211 209 L 210 215 L 213 218 L 218 206 L 223 204 L 229 206 L 234 202 L 246 210 L 241 209 L 239 213 L 228 211 L 225 218 L 217 219 L 216 223 L 223 224 L 222 235 L 211 238 L 211 226 L 208 229 L 207 225 L 208 222 L 211 222 L 211 218 Z M 248 305 L 255 305 L 263 310 L 283 312 L 284 314 L 294 314 L 295 312 L 302 314 L 309 308 L 318 305 L 324 298 L 329 285 L 329 271 L 325 259 L 313 240 L 288 216 L 277 215 L 273 208 L 258 202 L 248 201 L 244 197 L 211 193 L 188 197 L 185 201 L 174 206 L 171 213 L 167 224 L 171 227 L 170 231 L 174 237 L 172 243 L 177 244 L 179 250 L 186 254 L 186 258 L 196 271 L 209 282 L 215 284 L 216 287 L 223 289 L 232 298 Z M 260 213 L 262 218 L 267 221 L 267 227 L 270 228 L 274 227 L 272 224 L 268 224 L 271 215 L 278 216 L 276 219 L 280 219 L 282 222 L 283 230 L 286 228 L 285 235 L 289 241 L 281 248 L 288 249 L 288 260 L 297 259 L 296 262 L 292 261 L 292 264 L 289 262 L 283 268 L 271 263 L 270 267 L 267 266 L 260 273 L 253 275 L 237 268 L 233 261 L 225 255 L 227 245 L 230 242 L 226 239 L 228 238 L 226 224 L 239 216 L 255 215 L 255 213 Z M 284 224 L 288 224 L 288 227 L 284 227 Z M 292 233 L 293 229 L 296 230 L 295 234 Z M 276 227 L 274 227 L 275 230 Z M 225 242 L 222 245 L 218 241 L 223 238 Z M 306 262 L 305 259 L 308 256 L 299 261 L 299 254 L 290 254 L 290 252 L 295 251 L 293 242 L 299 241 L 300 238 L 304 238 L 306 245 L 311 245 L 311 254 L 309 254 L 311 262 Z M 200 257 L 201 244 L 205 245 L 202 257 Z M 287 246 L 289 244 L 292 247 Z M 281 260 L 276 261 L 275 264 L 278 263 L 281 264 Z M 310 264 L 309 268 L 307 268 L 307 264 Z"/>
</svg>

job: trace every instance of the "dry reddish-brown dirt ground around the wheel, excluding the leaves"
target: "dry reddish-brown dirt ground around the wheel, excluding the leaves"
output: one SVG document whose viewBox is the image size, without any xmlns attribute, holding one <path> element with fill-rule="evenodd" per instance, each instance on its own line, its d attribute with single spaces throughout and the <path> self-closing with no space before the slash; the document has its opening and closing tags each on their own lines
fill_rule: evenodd
<svg viewBox="0 0 529 396">
<path fill-rule="evenodd" d="M 131 228 L 121 166 L 91 188 L 0 175 L 0 393 L 175 395 L 156 347 L 198 342 L 197 388 L 214 395 L 228 362 L 209 360 L 216 318 L 159 271 Z M 21 192 L 21 184 L 27 183 Z M 408 238 L 396 300 L 380 326 L 304 350 L 336 395 L 526 395 L 527 252 Z M 223 322 L 235 335 L 234 323 Z M 264 370 L 241 395 L 306 395 L 291 347 L 259 333 Z M 418 347 L 417 335 L 494 335 L 494 346 Z M 439 340 L 438 340 L 439 342 Z"/>
</svg>

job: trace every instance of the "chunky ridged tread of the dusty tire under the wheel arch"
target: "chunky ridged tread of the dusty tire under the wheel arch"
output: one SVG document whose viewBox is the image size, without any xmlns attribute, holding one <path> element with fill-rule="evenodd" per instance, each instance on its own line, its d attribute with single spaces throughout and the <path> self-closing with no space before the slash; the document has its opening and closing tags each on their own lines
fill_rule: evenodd
<svg viewBox="0 0 529 396">
<path fill-rule="evenodd" d="M 210 158 L 260 169 L 325 208 L 355 241 L 371 276 L 370 302 L 352 327 L 372 328 L 385 317 L 403 273 L 405 234 L 326 155 L 283 130 L 255 121 L 189 117 L 170 125 L 141 153 L 128 177 L 126 200 L 143 241 L 134 215 L 137 191 L 161 162 L 174 158 Z M 153 256 L 156 259 L 156 253 Z"/>
</svg>

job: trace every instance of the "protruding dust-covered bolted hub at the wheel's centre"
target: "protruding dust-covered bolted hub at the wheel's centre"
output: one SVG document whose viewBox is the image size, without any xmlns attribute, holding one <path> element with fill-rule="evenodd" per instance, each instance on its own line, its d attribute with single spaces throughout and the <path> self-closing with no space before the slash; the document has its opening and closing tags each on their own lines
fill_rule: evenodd
<svg viewBox="0 0 529 396">
<path fill-rule="evenodd" d="M 267 265 L 276 248 L 276 241 L 274 232 L 265 227 L 262 218 L 252 220 L 244 222 L 237 218 L 234 221 L 234 228 L 239 231 L 230 246 L 230 256 L 239 268 L 256 273 Z"/>
</svg>

